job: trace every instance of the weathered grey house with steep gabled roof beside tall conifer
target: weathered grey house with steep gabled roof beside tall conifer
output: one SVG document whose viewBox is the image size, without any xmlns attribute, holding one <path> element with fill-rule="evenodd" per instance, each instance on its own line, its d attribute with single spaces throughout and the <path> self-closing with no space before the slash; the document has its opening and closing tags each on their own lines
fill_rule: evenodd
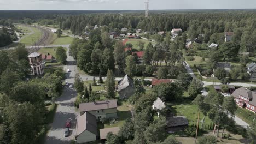
<svg viewBox="0 0 256 144">
<path fill-rule="evenodd" d="M 133 80 L 128 75 L 118 81 L 118 94 L 120 99 L 128 99 L 135 91 Z"/>
</svg>

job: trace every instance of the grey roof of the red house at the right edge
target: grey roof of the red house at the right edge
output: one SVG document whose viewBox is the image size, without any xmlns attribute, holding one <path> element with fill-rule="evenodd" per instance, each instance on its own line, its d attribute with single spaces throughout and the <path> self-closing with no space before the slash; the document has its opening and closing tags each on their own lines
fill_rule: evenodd
<svg viewBox="0 0 256 144">
<path fill-rule="evenodd" d="M 245 87 L 236 89 L 231 95 L 237 99 L 239 98 L 239 95 L 241 95 L 250 100 L 249 104 L 256 106 L 256 93 Z"/>
</svg>

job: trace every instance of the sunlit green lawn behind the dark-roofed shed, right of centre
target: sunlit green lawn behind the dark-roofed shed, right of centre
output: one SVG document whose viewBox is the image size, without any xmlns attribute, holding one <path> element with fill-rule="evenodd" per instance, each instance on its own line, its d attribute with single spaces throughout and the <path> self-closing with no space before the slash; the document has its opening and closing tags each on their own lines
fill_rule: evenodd
<svg viewBox="0 0 256 144">
<path fill-rule="evenodd" d="M 192 104 L 191 100 L 182 101 L 181 103 L 166 103 L 171 108 L 171 112 L 176 116 L 185 116 L 188 119 L 189 125 L 196 125 L 197 122 L 197 106 Z M 200 128 L 202 124 L 203 114 L 200 113 Z M 204 128 L 207 129 L 208 125 L 210 125 L 211 120 L 208 116 L 205 117 Z"/>
</svg>

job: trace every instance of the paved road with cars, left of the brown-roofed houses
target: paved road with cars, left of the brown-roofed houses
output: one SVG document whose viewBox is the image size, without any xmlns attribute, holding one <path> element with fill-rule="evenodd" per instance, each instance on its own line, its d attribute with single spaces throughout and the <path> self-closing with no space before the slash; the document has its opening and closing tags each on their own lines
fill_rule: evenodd
<svg viewBox="0 0 256 144">
<path fill-rule="evenodd" d="M 67 61 L 68 63 L 64 69 L 70 69 L 71 72 L 66 75 L 66 81 L 68 81 L 68 83 L 74 83 L 76 65 L 71 56 L 68 56 Z M 77 92 L 75 92 L 74 89 L 65 87 L 62 96 L 56 99 L 58 106 L 54 116 L 54 122 L 50 124 L 51 129 L 46 137 L 46 144 L 69 144 L 70 140 L 74 139 L 75 117 L 78 115 L 74 107 L 76 95 Z M 64 137 L 65 122 L 69 118 L 72 119 L 71 135 Z"/>
</svg>

